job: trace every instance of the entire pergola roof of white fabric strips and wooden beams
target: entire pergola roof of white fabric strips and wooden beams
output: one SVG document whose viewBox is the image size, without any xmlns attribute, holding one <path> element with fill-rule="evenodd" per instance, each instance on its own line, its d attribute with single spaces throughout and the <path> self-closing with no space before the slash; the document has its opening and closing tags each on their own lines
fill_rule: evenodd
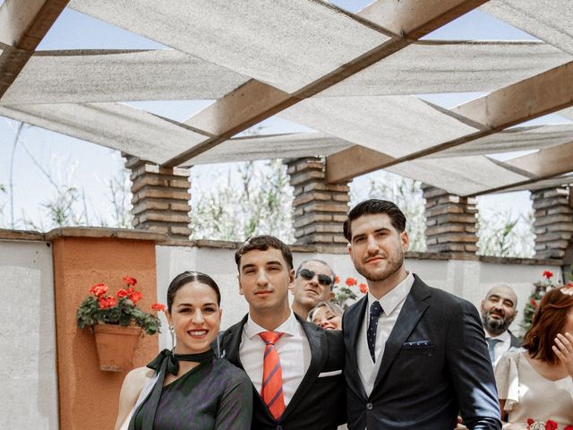
<svg viewBox="0 0 573 430">
<path fill-rule="evenodd" d="M 359 13 L 325 0 L 72 0 L 75 11 L 167 48 L 33 52 L 45 20 L 59 13 L 44 2 L 0 6 L 2 116 L 158 164 L 320 155 L 354 162 L 356 176 L 372 170 L 353 155 L 362 146 L 387 156 L 373 168 L 459 195 L 570 179 L 561 175 L 567 163 L 553 170 L 517 163 L 532 170 L 524 171 L 485 156 L 540 151 L 531 162 L 541 166 L 544 154 L 569 154 L 570 0 L 480 6 L 540 41 L 417 40 L 466 10 L 464 0 L 450 9 L 439 0 L 407 7 L 377 0 Z M 417 97 L 460 92 L 482 99 L 449 111 Z M 200 99 L 215 101 L 186 121 L 193 127 L 122 103 Z M 569 124 L 540 119 L 503 129 L 552 112 Z M 317 133 L 229 139 L 273 115 Z M 488 128 L 496 115 L 505 122 Z"/>
</svg>

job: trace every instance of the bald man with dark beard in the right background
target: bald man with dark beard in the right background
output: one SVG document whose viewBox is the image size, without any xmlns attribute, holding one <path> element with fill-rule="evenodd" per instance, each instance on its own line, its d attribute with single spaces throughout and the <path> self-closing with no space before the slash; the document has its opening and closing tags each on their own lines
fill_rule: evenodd
<svg viewBox="0 0 573 430">
<path fill-rule="evenodd" d="M 521 346 L 521 340 L 508 330 L 517 315 L 515 291 L 507 285 L 493 287 L 482 300 L 481 311 L 485 340 L 495 367 L 504 353 Z"/>
</svg>

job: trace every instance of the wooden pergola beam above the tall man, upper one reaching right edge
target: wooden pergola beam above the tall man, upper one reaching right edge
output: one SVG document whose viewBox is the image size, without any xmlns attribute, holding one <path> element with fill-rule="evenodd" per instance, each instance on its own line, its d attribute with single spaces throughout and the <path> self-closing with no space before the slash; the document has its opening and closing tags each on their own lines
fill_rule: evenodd
<svg viewBox="0 0 573 430">
<path fill-rule="evenodd" d="M 464 116 L 482 125 L 483 128 L 476 133 L 417 151 L 406 157 L 374 157 L 375 151 L 372 150 L 372 157 L 364 160 L 363 147 L 360 145 L 332 154 L 326 163 L 327 180 L 329 183 L 345 182 L 355 176 L 432 155 L 499 132 L 511 125 L 573 106 L 573 86 L 570 82 L 573 82 L 573 62 L 562 64 L 547 72 L 455 107 L 450 111 L 452 115 Z M 379 162 L 380 159 L 388 160 Z"/>
</svg>

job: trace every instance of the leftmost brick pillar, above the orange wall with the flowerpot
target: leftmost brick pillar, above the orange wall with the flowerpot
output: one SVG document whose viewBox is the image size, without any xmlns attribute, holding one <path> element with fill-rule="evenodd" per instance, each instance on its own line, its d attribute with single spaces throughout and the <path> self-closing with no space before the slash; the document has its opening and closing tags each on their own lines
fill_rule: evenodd
<svg viewBox="0 0 573 430">
<path fill-rule="evenodd" d="M 160 168 L 131 155 L 125 157 L 125 166 L 132 171 L 133 227 L 189 240 L 189 169 Z"/>
</svg>

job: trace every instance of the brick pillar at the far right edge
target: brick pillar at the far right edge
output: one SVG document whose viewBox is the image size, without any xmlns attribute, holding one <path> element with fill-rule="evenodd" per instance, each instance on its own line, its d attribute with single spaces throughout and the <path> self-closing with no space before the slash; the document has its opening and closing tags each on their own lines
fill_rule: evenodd
<svg viewBox="0 0 573 430">
<path fill-rule="evenodd" d="M 531 192 L 535 210 L 535 258 L 563 259 L 572 245 L 573 196 L 567 186 Z"/>
</svg>

